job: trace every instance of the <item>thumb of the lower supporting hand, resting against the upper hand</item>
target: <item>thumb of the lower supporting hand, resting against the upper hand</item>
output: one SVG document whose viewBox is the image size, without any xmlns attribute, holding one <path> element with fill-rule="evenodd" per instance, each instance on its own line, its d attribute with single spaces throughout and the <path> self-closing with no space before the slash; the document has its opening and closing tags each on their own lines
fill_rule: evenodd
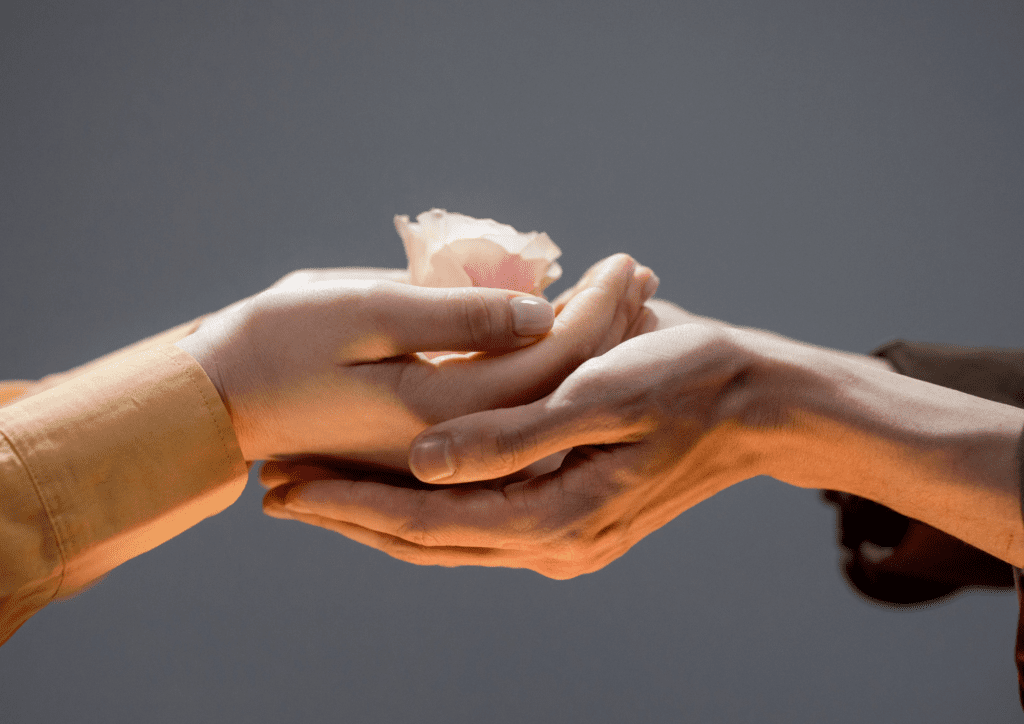
<svg viewBox="0 0 1024 724">
<path fill-rule="evenodd" d="M 595 439 L 595 432 L 601 433 L 587 424 L 583 412 L 567 403 L 556 406 L 549 396 L 449 420 L 413 440 L 409 467 L 424 482 L 490 480 L 567 448 L 610 441 Z"/>
</svg>

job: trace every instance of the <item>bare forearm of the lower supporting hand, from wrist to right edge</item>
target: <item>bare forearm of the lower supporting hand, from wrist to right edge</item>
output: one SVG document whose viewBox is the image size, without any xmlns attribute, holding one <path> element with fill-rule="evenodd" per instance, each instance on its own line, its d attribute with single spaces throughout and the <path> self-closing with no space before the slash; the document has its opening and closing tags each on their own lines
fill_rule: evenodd
<svg viewBox="0 0 1024 724">
<path fill-rule="evenodd" d="M 1024 410 L 887 372 L 869 358 L 758 341 L 758 398 L 784 400 L 776 402 L 781 424 L 766 434 L 769 474 L 867 498 L 1024 565 L 1017 460 Z"/>
</svg>

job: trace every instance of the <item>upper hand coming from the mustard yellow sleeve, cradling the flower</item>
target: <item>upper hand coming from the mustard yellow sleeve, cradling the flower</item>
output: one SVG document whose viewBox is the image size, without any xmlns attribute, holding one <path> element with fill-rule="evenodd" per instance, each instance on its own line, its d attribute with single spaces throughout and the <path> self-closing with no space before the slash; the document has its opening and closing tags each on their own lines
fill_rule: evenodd
<svg viewBox="0 0 1024 724">
<path fill-rule="evenodd" d="M 618 343 L 653 292 L 649 269 L 625 254 L 606 259 L 553 322 L 547 302 L 518 292 L 301 273 L 178 343 L 220 392 L 246 460 L 316 454 L 406 469 L 419 431 L 547 394 Z M 517 300 L 542 314 L 521 335 Z M 484 351 L 416 354 L 437 349 Z"/>
</svg>

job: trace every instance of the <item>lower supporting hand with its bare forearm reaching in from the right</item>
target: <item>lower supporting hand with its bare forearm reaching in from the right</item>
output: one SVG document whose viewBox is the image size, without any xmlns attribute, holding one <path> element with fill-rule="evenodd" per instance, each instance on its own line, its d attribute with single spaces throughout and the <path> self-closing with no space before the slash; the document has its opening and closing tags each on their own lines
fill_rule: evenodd
<svg viewBox="0 0 1024 724">
<path fill-rule="evenodd" d="M 555 306 L 571 301 L 570 292 Z M 1024 565 L 1015 460 L 1024 411 L 884 360 L 662 301 L 647 309 L 646 334 L 587 360 L 546 397 L 421 433 L 410 465 L 420 480 L 268 463 L 264 510 L 413 563 L 567 579 L 725 487 L 770 475 L 877 501 Z M 456 469 L 447 477 L 429 474 L 430 456 L 418 459 L 438 436 Z M 554 471 L 516 473 L 567 449 Z"/>
</svg>

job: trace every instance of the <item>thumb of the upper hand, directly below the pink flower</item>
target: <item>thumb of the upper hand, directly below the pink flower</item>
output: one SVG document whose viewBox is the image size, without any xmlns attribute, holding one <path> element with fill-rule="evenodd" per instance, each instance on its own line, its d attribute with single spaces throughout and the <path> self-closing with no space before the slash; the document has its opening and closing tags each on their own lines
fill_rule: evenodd
<svg viewBox="0 0 1024 724">
<path fill-rule="evenodd" d="M 536 342 L 555 321 L 546 299 L 505 289 L 396 284 L 371 300 L 396 354 L 514 349 Z"/>
</svg>

